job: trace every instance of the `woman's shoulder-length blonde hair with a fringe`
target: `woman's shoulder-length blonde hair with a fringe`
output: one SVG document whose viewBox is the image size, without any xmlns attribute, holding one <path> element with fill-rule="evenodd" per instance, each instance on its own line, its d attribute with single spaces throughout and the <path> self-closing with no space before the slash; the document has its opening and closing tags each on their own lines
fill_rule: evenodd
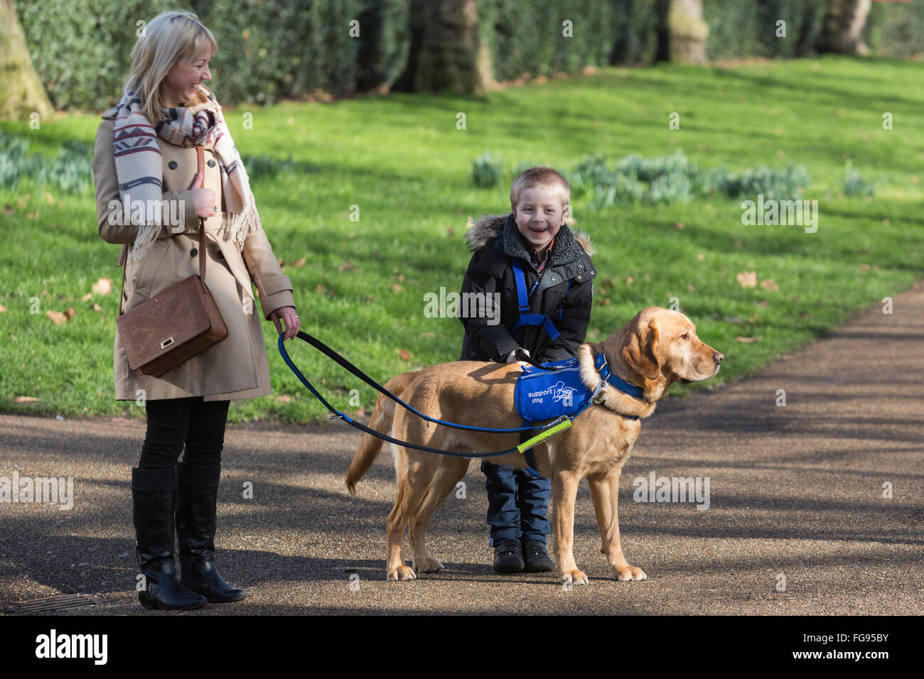
<svg viewBox="0 0 924 679">
<path fill-rule="evenodd" d="M 161 82 L 170 69 L 188 55 L 189 58 L 211 48 L 218 51 L 212 31 L 202 26 L 192 12 L 172 10 L 152 18 L 131 50 L 131 70 L 126 85 L 140 99 L 144 115 L 154 127 L 164 120 L 161 108 Z M 205 92 L 196 86 L 196 96 L 188 103 L 205 103 Z"/>
</svg>

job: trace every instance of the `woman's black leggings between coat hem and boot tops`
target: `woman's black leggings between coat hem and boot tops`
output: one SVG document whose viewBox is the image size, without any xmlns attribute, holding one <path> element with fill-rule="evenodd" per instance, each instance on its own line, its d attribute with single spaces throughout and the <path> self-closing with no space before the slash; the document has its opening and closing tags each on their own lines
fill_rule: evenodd
<svg viewBox="0 0 924 679">
<path fill-rule="evenodd" d="M 148 401 L 148 431 L 141 446 L 141 469 L 176 467 L 186 444 L 188 465 L 217 465 L 225 446 L 229 401 L 201 396 Z"/>
</svg>

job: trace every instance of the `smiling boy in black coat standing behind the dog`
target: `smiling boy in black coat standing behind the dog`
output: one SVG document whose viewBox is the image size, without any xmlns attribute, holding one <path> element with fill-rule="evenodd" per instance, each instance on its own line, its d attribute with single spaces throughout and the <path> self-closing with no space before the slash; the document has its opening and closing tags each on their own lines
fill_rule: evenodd
<svg viewBox="0 0 924 679">
<path fill-rule="evenodd" d="M 596 269 L 588 236 L 565 224 L 569 201 L 564 176 L 551 167 L 530 167 L 510 188 L 512 212 L 484 217 L 468 229 L 473 254 L 462 294 L 498 293 L 500 322 L 496 316 L 493 322 L 461 318 L 466 332 L 459 360 L 513 363 L 517 349 L 540 363 L 575 356 L 590 322 Z M 549 479 L 490 462 L 481 471 L 487 477 L 494 570 L 553 570 L 546 551 Z"/>
</svg>

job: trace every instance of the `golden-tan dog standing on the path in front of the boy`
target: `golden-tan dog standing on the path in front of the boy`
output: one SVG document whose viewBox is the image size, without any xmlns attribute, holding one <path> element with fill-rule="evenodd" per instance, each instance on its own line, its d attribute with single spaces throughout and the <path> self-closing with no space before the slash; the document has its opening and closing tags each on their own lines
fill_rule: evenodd
<svg viewBox="0 0 924 679">
<path fill-rule="evenodd" d="M 570 429 L 532 448 L 538 471 L 552 479 L 553 553 L 561 580 L 568 585 L 588 582 L 572 552 L 577 484 L 584 478 L 590 481 L 602 553 L 610 572 L 618 580 L 647 578 L 641 568 L 626 563 L 619 542 L 619 474 L 641 428 L 639 419 L 623 416 L 647 418 L 674 382 L 708 380 L 719 371 L 723 359 L 721 353 L 699 341 L 696 326 L 687 316 L 658 307 L 642 309 L 602 343 L 578 347 L 580 379 L 591 392 L 600 382 L 594 358 L 601 353 L 616 376 L 642 389 L 642 398 L 607 384 L 593 405 L 573 420 Z M 522 425 L 514 406 L 514 385 L 520 372 L 518 363 L 455 361 L 402 373 L 385 386 L 432 418 L 514 429 Z M 370 427 L 383 434 L 390 431 L 400 441 L 459 453 L 490 453 L 516 448 L 518 443 L 517 433 L 456 430 L 427 423 L 381 394 Z M 357 482 L 371 467 L 382 443 L 371 434 L 363 434 L 346 473 L 346 487 L 352 494 L 356 494 Z M 427 551 L 424 533 L 433 511 L 465 476 L 469 458 L 392 447 L 398 492 L 395 508 L 388 515 L 386 570 L 389 580 L 410 580 L 416 577 L 415 571 L 443 569 Z M 518 453 L 490 459 L 500 465 L 527 467 L 524 456 Z M 405 527 L 413 568 L 401 555 Z"/>
</svg>

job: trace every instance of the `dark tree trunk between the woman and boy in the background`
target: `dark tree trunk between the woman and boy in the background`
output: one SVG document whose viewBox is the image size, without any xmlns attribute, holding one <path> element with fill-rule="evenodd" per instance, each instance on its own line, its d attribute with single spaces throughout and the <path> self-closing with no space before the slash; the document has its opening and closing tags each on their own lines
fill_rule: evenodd
<svg viewBox="0 0 924 679">
<path fill-rule="evenodd" d="M 412 0 L 407 67 L 396 91 L 483 94 L 491 57 L 478 33 L 478 0 Z"/>
</svg>

